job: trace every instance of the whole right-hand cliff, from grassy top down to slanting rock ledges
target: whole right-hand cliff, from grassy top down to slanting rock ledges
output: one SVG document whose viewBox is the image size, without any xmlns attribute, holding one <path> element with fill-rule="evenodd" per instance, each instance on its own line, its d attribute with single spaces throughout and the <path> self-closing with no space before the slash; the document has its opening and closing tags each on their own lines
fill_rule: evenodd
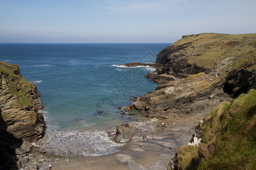
<svg viewBox="0 0 256 170">
<path fill-rule="evenodd" d="M 205 115 L 256 87 L 255 48 L 256 34 L 183 36 L 158 54 L 162 67 L 146 75 L 164 84 L 138 97 L 134 106 L 146 117 Z"/>
</svg>

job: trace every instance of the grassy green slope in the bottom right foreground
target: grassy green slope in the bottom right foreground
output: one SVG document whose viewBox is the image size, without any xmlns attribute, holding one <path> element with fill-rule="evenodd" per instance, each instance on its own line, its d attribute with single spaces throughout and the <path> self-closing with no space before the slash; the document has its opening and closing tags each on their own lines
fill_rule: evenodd
<svg viewBox="0 0 256 170">
<path fill-rule="evenodd" d="M 201 124 L 203 142 L 177 151 L 182 169 L 254 169 L 256 167 L 256 90 L 242 94 L 232 103 L 222 103 Z M 205 156 L 205 148 L 215 150 Z M 209 147 L 208 147 L 209 148 Z M 202 154 L 203 153 L 203 154 Z"/>
</svg>

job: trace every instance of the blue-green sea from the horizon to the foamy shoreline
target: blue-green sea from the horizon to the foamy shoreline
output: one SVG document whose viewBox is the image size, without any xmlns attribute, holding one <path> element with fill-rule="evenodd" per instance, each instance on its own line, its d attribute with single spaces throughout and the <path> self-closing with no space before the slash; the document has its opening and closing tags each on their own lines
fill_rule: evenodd
<svg viewBox="0 0 256 170">
<path fill-rule="evenodd" d="M 121 114 L 130 99 L 159 85 L 144 75 L 171 44 L 0 44 L 0 60 L 19 65 L 20 73 L 40 92 L 46 135 L 36 145 L 69 158 L 117 152 L 121 144 L 109 133 L 130 122 L 143 131 L 154 129 L 155 119 Z M 118 109 L 122 107 L 122 109 Z M 146 123 L 145 123 L 146 122 Z M 147 126 L 144 126 L 147 125 Z"/>
</svg>

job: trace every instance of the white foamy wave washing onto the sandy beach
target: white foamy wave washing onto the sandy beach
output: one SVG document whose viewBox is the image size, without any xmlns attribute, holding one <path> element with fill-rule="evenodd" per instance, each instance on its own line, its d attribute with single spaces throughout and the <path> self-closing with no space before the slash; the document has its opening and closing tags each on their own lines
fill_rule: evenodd
<svg viewBox="0 0 256 170">
<path fill-rule="evenodd" d="M 46 134 L 36 145 L 47 152 L 71 158 L 112 154 L 119 151 L 116 147 L 122 146 L 109 139 L 106 131 L 56 131 Z"/>
</svg>

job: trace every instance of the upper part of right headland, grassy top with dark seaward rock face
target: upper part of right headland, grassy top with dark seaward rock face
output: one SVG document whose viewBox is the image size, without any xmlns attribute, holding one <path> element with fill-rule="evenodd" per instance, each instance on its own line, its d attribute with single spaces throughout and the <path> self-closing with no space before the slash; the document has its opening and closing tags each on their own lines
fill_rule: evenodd
<svg viewBox="0 0 256 170">
<path fill-rule="evenodd" d="M 241 69 L 244 63 L 255 63 L 256 34 L 229 35 L 220 33 L 200 33 L 183 36 L 182 39 L 162 50 L 156 63 L 165 65 L 158 74 L 186 77 L 203 71 L 220 68 L 229 62 L 232 70 Z M 255 66 L 253 67 L 254 69 Z"/>
</svg>

